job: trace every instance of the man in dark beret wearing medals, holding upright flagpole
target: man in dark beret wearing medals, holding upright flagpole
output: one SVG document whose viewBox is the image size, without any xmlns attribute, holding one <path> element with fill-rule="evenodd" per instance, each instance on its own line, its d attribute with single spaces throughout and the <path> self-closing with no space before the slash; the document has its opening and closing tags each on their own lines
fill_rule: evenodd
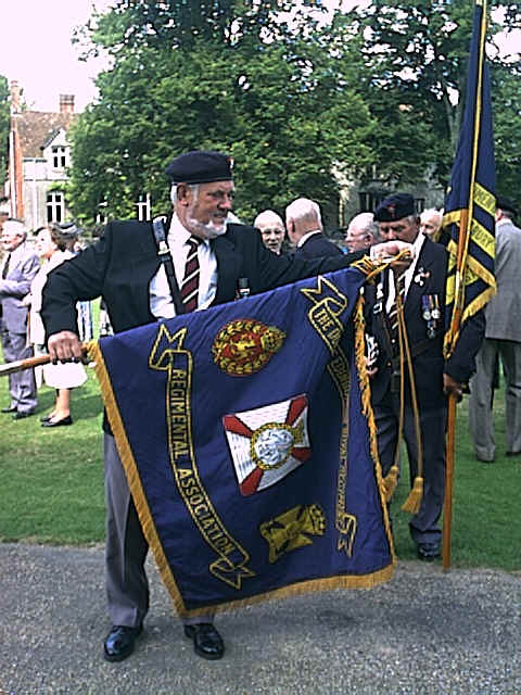
<svg viewBox="0 0 521 695">
<path fill-rule="evenodd" d="M 379 346 L 377 372 L 372 382 L 372 403 L 377 422 L 382 475 L 395 463 L 399 407 L 401 365 L 405 377 L 404 439 L 409 458 L 410 480 L 418 470 L 411 387 L 407 367 L 398 349 L 396 295 L 404 306 L 418 396 L 421 447 L 423 454 L 423 498 L 409 523 L 420 559 L 440 555 L 441 530 L 437 525 L 445 490 L 445 420 L 447 394 L 458 400 L 475 369 L 474 356 L 484 333 L 482 313 L 469 319 L 453 356 L 443 357 L 445 334 L 445 280 L 447 251 L 420 231 L 415 201 L 408 193 L 385 198 L 374 213 L 382 239 L 399 239 L 414 245 L 415 258 L 401 276 L 393 270 L 382 274 L 372 298 L 372 334 Z M 396 462 L 397 463 L 397 462 Z"/>
</svg>

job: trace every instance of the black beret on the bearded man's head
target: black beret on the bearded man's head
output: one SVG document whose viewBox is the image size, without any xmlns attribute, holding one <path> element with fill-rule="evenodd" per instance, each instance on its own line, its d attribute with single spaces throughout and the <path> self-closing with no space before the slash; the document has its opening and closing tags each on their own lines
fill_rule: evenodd
<svg viewBox="0 0 521 695">
<path fill-rule="evenodd" d="M 192 150 L 173 160 L 165 169 L 171 184 L 231 181 L 233 160 L 220 152 Z"/>
</svg>

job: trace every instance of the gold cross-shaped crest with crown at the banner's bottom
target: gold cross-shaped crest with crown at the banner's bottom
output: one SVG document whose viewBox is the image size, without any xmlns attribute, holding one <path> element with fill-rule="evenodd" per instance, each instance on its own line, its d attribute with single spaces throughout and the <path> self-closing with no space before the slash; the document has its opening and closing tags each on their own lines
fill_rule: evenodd
<svg viewBox="0 0 521 695">
<path fill-rule="evenodd" d="M 260 525 L 269 546 L 268 559 L 275 563 L 284 553 L 312 545 L 310 535 L 323 535 L 326 517 L 318 504 L 298 505 Z"/>
</svg>

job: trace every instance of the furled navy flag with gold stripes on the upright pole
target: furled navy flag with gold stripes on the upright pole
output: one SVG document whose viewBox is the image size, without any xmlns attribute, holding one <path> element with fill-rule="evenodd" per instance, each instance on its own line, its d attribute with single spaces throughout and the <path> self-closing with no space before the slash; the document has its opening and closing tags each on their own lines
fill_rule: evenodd
<svg viewBox="0 0 521 695">
<path fill-rule="evenodd" d="M 476 0 L 465 112 L 445 200 L 443 227 L 448 233 L 446 292 L 449 356 L 463 321 L 495 293 L 495 165 L 488 68 L 485 62 L 486 0 Z"/>
</svg>

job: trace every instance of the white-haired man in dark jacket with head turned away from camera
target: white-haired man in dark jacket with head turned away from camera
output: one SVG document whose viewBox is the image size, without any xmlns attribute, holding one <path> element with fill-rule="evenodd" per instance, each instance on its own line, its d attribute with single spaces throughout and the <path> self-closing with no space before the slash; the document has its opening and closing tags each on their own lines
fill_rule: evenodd
<svg viewBox="0 0 521 695">
<path fill-rule="evenodd" d="M 288 205 L 285 228 L 290 241 L 296 247 L 296 257 L 320 258 L 342 254 L 339 247 L 323 233 L 320 207 L 313 200 L 297 198 Z"/>
</svg>

